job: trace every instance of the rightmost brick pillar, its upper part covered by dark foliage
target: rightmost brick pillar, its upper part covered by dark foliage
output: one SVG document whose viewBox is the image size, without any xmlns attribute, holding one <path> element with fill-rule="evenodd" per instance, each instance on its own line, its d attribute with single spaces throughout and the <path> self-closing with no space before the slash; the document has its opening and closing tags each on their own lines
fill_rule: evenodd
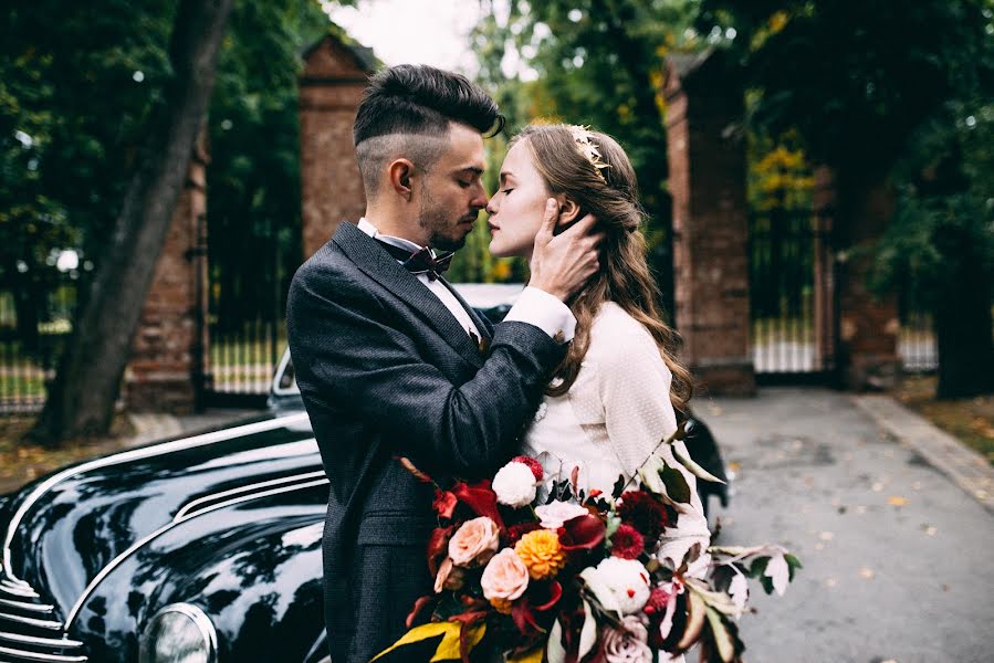
<svg viewBox="0 0 994 663">
<path fill-rule="evenodd" d="M 860 172 L 837 172 L 836 191 L 839 377 L 854 391 L 887 389 L 897 382 L 901 368 L 897 297 L 869 291 L 871 265 L 865 252 L 893 214 L 893 191 L 882 179 Z"/>
</svg>

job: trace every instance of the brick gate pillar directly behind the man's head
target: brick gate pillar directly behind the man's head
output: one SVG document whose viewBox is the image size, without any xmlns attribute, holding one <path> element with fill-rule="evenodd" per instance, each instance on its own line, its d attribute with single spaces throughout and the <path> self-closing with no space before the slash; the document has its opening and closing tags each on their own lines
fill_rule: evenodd
<svg viewBox="0 0 994 663">
<path fill-rule="evenodd" d="M 358 221 L 366 210 L 352 125 L 375 66 L 372 51 L 334 35 L 304 54 L 300 112 L 305 260 L 332 238 L 343 219 Z"/>
</svg>

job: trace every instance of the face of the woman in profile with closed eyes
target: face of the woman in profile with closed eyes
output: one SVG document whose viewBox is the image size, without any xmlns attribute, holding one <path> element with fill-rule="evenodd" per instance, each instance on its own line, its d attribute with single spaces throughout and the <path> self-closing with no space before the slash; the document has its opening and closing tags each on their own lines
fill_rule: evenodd
<svg viewBox="0 0 994 663">
<path fill-rule="evenodd" d="M 525 140 L 519 140 L 504 157 L 500 189 L 486 206 L 490 253 L 498 257 L 531 259 L 548 198 L 545 182 L 532 164 L 531 150 Z"/>
</svg>

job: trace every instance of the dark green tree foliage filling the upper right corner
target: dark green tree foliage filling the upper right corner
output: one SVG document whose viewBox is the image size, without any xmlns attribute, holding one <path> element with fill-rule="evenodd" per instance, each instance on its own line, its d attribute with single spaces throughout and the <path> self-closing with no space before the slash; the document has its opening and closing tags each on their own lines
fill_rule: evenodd
<svg viewBox="0 0 994 663">
<path fill-rule="evenodd" d="M 705 0 L 698 20 L 734 39 L 754 127 L 796 129 L 834 168 L 843 209 L 862 187 L 897 192 L 873 255 L 878 293 L 932 313 L 939 394 L 994 389 L 991 0 Z M 984 95 L 987 96 L 984 96 Z M 846 223 L 846 220 L 844 220 Z"/>
</svg>

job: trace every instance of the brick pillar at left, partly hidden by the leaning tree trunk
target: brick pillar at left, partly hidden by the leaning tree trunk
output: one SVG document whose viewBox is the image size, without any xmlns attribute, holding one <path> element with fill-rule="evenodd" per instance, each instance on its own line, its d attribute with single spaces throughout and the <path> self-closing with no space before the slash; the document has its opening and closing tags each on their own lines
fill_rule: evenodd
<svg viewBox="0 0 994 663">
<path fill-rule="evenodd" d="M 207 162 L 201 133 L 132 345 L 125 375 L 132 411 L 188 413 L 201 404 L 208 356 Z"/>
</svg>

